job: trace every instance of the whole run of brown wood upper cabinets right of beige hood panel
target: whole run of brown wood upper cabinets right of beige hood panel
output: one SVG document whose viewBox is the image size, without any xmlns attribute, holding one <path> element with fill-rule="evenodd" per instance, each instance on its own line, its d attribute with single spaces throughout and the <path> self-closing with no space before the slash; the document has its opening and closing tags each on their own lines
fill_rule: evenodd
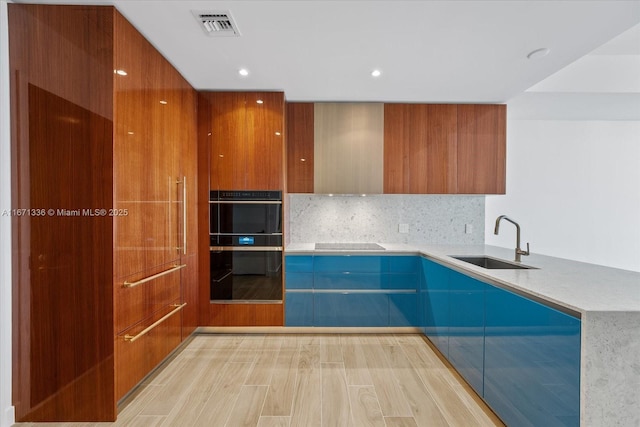
<svg viewBox="0 0 640 427">
<path fill-rule="evenodd" d="M 504 194 L 506 106 L 385 104 L 385 193 Z"/>
</svg>

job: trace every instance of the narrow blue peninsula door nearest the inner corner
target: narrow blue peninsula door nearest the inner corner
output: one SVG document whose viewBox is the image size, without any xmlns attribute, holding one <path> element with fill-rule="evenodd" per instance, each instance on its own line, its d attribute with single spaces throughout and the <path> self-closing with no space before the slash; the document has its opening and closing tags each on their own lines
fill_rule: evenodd
<svg viewBox="0 0 640 427">
<path fill-rule="evenodd" d="M 422 258 L 420 280 L 420 326 L 438 350 L 449 357 L 450 269 Z"/>
</svg>

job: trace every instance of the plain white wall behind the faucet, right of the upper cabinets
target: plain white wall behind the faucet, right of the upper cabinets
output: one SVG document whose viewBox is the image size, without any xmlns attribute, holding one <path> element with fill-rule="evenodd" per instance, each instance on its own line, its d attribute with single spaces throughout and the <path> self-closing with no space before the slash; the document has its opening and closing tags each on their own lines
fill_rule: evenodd
<svg viewBox="0 0 640 427">
<path fill-rule="evenodd" d="M 640 271 L 640 121 L 508 120 L 507 195 L 488 196 L 485 242 Z M 523 259 L 526 263 L 526 257 Z"/>
</svg>

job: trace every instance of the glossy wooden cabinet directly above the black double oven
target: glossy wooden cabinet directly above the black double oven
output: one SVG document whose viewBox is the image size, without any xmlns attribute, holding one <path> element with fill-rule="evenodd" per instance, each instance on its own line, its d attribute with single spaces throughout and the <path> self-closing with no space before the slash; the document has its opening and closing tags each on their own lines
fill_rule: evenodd
<svg viewBox="0 0 640 427">
<path fill-rule="evenodd" d="M 204 92 L 199 103 L 205 121 L 199 128 L 208 129 L 210 188 L 282 191 L 284 94 Z"/>
</svg>

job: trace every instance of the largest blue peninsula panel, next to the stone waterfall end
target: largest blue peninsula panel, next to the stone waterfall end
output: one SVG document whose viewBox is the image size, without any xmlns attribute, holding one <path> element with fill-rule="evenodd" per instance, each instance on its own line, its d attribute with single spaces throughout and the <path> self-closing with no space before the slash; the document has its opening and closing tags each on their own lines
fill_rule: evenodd
<svg viewBox="0 0 640 427">
<path fill-rule="evenodd" d="M 486 292 L 484 399 L 513 426 L 580 424 L 580 320 L 512 292 Z"/>
</svg>

